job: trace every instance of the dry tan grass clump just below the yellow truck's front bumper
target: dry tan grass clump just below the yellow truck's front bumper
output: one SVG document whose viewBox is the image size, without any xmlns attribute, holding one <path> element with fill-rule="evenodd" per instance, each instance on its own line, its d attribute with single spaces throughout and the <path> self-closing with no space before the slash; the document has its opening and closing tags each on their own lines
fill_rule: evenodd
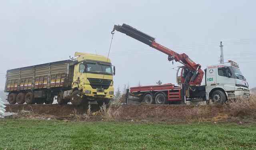
<svg viewBox="0 0 256 150">
<path fill-rule="evenodd" d="M 121 106 L 114 107 L 113 105 L 110 105 L 109 107 L 107 107 L 107 105 L 104 104 L 100 107 L 99 112 L 100 112 L 100 115 L 106 120 L 116 120 L 120 118 Z"/>
</svg>

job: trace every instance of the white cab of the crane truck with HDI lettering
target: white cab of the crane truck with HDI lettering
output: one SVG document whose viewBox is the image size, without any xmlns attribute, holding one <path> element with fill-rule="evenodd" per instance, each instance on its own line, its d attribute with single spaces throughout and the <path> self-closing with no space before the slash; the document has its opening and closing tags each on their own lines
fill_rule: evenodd
<svg viewBox="0 0 256 150">
<path fill-rule="evenodd" d="M 223 104 L 228 99 L 250 96 L 246 78 L 236 62 L 210 65 L 204 71 L 206 100 Z"/>
</svg>

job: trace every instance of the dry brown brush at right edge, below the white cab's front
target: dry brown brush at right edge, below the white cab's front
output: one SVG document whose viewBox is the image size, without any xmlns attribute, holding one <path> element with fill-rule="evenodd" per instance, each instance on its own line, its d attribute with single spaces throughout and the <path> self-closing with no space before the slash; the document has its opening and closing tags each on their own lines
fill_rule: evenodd
<svg viewBox="0 0 256 150">
<path fill-rule="evenodd" d="M 256 117 L 256 96 L 241 97 L 228 102 L 228 104 L 233 116 L 242 118 L 244 116 Z"/>
</svg>

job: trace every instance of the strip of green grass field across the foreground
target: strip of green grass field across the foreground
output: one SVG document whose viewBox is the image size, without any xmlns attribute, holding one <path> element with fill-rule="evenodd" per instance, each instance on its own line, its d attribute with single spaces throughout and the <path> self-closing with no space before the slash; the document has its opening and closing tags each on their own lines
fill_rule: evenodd
<svg viewBox="0 0 256 150">
<path fill-rule="evenodd" d="M 256 124 L 0 119 L 0 150 L 256 149 Z"/>
</svg>

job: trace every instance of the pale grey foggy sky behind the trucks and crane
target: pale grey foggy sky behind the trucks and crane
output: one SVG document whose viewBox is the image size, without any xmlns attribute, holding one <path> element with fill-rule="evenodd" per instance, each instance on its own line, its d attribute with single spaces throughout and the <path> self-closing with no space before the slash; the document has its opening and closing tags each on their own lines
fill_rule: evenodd
<svg viewBox="0 0 256 150">
<path fill-rule="evenodd" d="M 0 88 L 6 70 L 67 60 L 74 52 L 107 56 L 114 24 L 126 23 L 202 69 L 218 64 L 219 42 L 225 61 L 240 64 L 249 88 L 256 87 L 256 1 L 254 0 L 0 0 Z M 115 89 L 176 84 L 178 62 L 120 32 L 110 59 L 116 66 Z"/>
</svg>

